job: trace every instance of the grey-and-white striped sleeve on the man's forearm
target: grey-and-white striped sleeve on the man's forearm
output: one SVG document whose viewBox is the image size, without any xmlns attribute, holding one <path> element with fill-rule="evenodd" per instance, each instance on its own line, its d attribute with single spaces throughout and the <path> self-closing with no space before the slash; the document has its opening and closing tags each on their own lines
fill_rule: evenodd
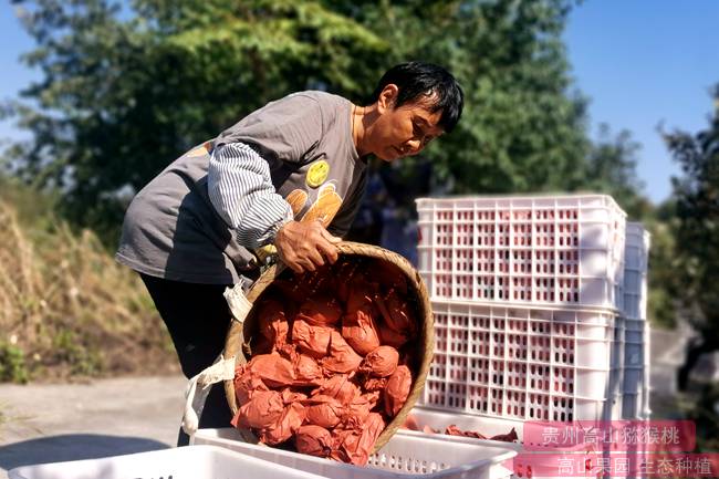
<svg viewBox="0 0 719 479">
<path fill-rule="evenodd" d="M 268 163 L 243 143 L 212 152 L 207 188 L 212 206 L 246 248 L 272 242 L 292 219 L 290 205 L 272 185 Z"/>
</svg>

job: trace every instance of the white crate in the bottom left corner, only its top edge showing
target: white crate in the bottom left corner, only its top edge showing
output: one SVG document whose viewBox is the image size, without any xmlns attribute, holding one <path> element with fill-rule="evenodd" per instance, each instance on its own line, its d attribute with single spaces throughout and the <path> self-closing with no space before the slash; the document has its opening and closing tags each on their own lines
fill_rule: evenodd
<svg viewBox="0 0 719 479">
<path fill-rule="evenodd" d="M 322 479 L 302 470 L 268 462 L 216 446 L 189 446 L 102 459 L 23 466 L 9 479 Z"/>
</svg>

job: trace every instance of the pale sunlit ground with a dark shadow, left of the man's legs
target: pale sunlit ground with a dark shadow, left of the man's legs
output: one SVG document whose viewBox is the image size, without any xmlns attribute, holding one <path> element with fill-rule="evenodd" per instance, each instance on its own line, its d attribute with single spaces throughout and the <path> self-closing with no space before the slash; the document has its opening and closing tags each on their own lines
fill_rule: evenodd
<svg viewBox="0 0 719 479">
<path fill-rule="evenodd" d="M 0 479 L 18 466 L 174 446 L 186 384 L 181 376 L 0 384 Z"/>
</svg>

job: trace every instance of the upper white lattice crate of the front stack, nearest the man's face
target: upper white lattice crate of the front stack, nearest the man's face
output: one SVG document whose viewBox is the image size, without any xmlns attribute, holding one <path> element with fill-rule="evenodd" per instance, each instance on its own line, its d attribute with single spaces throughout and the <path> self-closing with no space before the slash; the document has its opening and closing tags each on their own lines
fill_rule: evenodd
<svg viewBox="0 0 719 479">
<path fill-rule="evenodd" d="M 430 298 L 622 309 L 626 214 L 608 196 L 417 199 Z"/>
</svg>

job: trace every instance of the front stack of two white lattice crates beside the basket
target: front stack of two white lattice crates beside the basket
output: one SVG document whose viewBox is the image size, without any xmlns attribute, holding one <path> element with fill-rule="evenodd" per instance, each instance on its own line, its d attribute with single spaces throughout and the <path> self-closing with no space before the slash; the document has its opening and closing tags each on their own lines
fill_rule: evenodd
<svg viewBox="0 0 719 479">
<path fill-rule="evenodd" d="M 621 418 L 626 215 L 616 202 L 471 197 L 417 209 L 436 326 L 421 404 L 514 421 Z"/>
</svg>

